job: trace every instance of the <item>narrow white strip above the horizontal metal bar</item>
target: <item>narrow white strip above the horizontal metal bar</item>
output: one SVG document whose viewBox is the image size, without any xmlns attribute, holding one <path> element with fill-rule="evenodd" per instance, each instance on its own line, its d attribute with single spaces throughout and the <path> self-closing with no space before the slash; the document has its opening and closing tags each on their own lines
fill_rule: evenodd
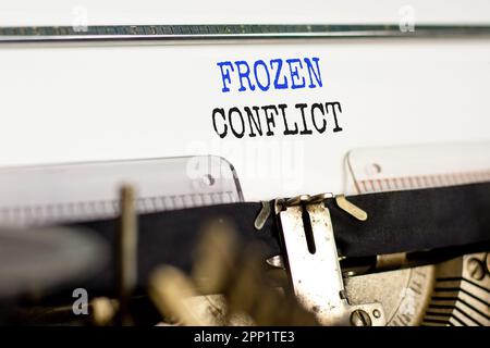
<svg viewBox="0 0 490 348">
<path fill-rule="evenodd" d="M 418 23 L 490 23 L 488 0 L 2 0 L 0 25 L 71 25 L 78 5 L 90 24 L 397 23 L 404 5 Z"/>
</svg>

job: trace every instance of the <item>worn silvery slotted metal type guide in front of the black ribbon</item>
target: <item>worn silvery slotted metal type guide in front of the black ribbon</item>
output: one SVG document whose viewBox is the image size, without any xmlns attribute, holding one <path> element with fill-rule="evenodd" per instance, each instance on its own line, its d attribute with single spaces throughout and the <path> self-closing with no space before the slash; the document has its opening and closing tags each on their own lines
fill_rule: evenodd
<svg viewBox="0 0 490 348">
<path fill-rule="evenodd" d="M 307 213 L 307 217 L 304 213 Z M 358 314 L 362 310 L 369 313 L 369 325 L 384 325 L 384 311 L 380 303 L 351 306 L 345 298 L 329 210 L 321 203 L 286 207 L 279 213 L 279 219 L 286 269 L 294 293 L 307 310 L 316 313 L 320 324 L 357 324 L 359 321 L 353 321 L 351 316 L 356 316 L 354 312 Z M 311 233 L 309 243 L 307 233 Z M 372 315 L 375 311 L 377 316 Z"/>
</svg>

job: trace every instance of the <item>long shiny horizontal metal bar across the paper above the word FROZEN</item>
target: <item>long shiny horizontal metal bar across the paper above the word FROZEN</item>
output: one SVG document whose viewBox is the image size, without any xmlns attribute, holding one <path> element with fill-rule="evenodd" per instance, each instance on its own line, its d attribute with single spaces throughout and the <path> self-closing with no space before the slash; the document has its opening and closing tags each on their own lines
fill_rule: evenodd
<svg viewBox="0 0 490 348">
<path fill-rule="evenodd" d="M 366 37 L 489 36 L 489 26 L 421 25 L 414 32 L 397 25 L 106 25 L 89 27 L 2 27 L 1 44 L 134 42 L 157 44 L 246 41 L 260 39 L 328 39 Z"/>
</svg>

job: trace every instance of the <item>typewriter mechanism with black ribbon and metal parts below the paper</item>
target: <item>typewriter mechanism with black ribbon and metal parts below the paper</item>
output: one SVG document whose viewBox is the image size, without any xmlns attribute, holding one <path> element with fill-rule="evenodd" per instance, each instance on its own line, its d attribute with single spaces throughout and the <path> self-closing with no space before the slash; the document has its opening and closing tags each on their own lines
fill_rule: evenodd
<svg viewBox="0 0 490 348">
<path fill-rule="evenodd" d="M 184 183 L 180 177 L 189 165 L 200 174 Z M 155 175 L 145 182 L 142 174 L 148 171 Z M 32 181 L 39 173 L 42 185 Z M 90 179 L 102 173 L 105 179 Z M 5 323 L 490 323 L 488 233 L 479 232 L 487 217 L 467 226 L 470 243 L 456 235 L 462 224 L 471 223 L 469 217 L 450 225 L 441 221 L 450 219 L 448 212 L 474 219 L 474 204 L 485 204 L 489 197 L 488 184 L 480 181 L 483 172 L 460 175 L 466 182 L 453 186 L 257 203 L 242 201 L 233 167 L 213 157 L 20 167 L 1 175 L 5 182 L 15 177 L 16 195 L 29 191 L 35 203 L 2 209 L 3 221 L 10 219 L 12 225 L 1 234 Z M 82 177 L 91 187 L 75 188 Z M 155 186 L 161 179 L 173 185 Z M 119 194 L 102 188 L 122 182 L 138 183 L 138 189 L 130 184 Z M 58 202 L 42 203 L 46 190 L 58 192 Z M 87 195 L 99 196 L 82 202 Z M 474 203 L 461 204 L 468 197 Z M 64 201 L 73 198 L 79 201 Z M 420 203 L 409 203 L 424 199 L 432 204 L 441 198 L 446 203 L 428 206 L 430 214 L 418 210 Z M 381 234 L 379 226 L 369 225 L 376 219 L 382 231 L 396 231 Z M 427 231 L 418 234 L 413 219 Z M 427 224 L 429 219 L 449 228 L 453 239 L 440 235 L 439 225 Z M 399 235 L 404 228 L 413 234 L 409 238 Z M 421 238 L 416 241 L 421 245 L 427 238 L 433 247 L 377 253 L 403 248 L 413 238 Z"/>
</svg>

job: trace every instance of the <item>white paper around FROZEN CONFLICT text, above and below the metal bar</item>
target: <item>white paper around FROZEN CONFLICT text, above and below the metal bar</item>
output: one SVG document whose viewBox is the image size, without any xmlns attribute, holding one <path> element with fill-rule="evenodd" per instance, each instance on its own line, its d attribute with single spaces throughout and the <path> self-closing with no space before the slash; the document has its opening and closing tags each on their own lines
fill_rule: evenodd
<svg viewBox="0 0 490 348">
<path fill-rule="evenodd" d="M 0 24 L 70 25 L 83 3 L 88 24 L 396 23 L 407 4 L 99 2 L 3 0 Z M 417 23 L 490 16 L 488 1 L 409 4 Z M 320 58 L 323 88 L 221 92 L 218 61 L 296 57 Z M 490 140 L 489 91 L 489 39 L 2 47 L 0 165 L 212 153 L 236 166 L 246 199 L 339 192 L 350 149 Z M 212 130 L 216 107 L 322 101 L 342 103 L 344 132 L 221 140 Z"/>
</svg>

